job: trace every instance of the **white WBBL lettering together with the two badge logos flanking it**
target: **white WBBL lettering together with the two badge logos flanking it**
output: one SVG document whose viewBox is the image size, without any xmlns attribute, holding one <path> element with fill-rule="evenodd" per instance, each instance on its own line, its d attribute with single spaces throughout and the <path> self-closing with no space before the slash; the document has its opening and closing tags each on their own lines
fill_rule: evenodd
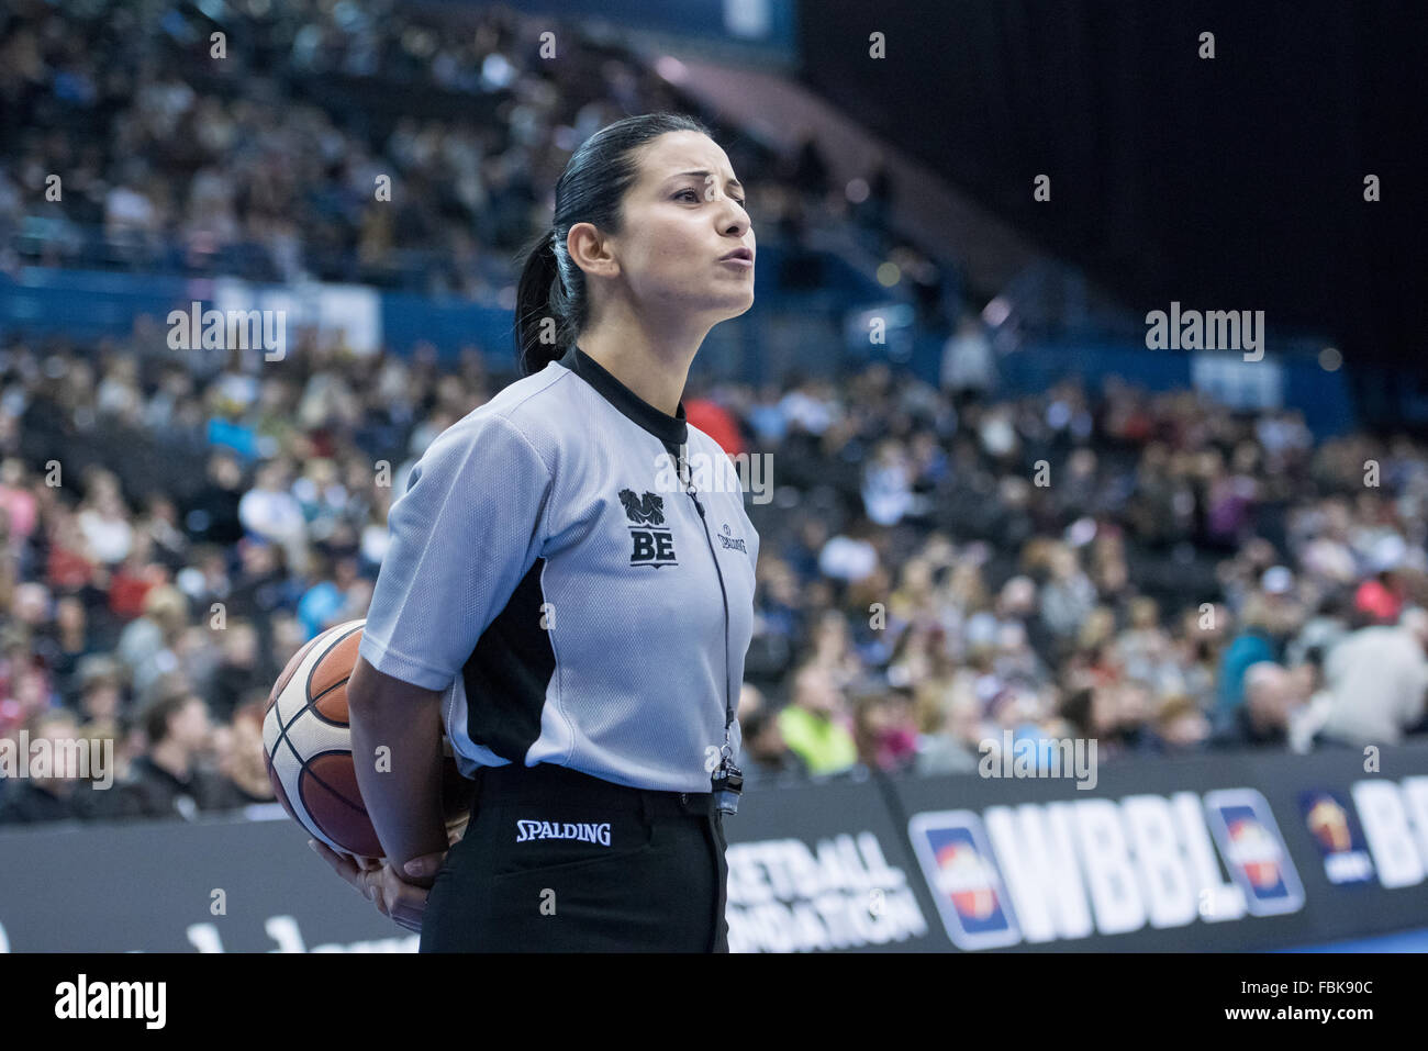
<svg viewBox="0 0 1428 1051">
<path fill-rule="evenodd" d="M 1274 817 L 1248 788 L 920 813 L 908 837 L 947 937 L 964 950 L 1304 905 Z"/>
</svg>

